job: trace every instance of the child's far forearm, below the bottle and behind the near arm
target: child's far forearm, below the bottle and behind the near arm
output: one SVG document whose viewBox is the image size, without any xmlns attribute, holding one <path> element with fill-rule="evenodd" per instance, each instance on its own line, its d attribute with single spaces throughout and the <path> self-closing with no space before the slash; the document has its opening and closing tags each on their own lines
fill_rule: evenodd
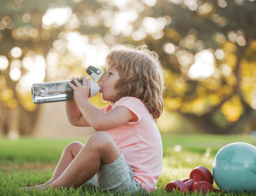
<svg viewBox="0 0 256 196">
<path fill-rule="evenodd" d="M 91 126 L 83 117 L 82 112 L 76 105 L 75 101 L 66 101 L 66 114 L 69 123 L 74 126 L 88 127 Z"/>
</svg>

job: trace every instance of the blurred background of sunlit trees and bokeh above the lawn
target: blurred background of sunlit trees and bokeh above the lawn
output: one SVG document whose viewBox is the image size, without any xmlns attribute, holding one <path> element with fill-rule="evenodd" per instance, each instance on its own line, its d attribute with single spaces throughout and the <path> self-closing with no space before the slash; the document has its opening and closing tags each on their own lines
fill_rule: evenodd
<svg viewBox="0 0 256 196">
<path fill-rule="evenodd" d="M 68 123 L 64 102 L 35 105 L 32 84 L 88 78 L 113 46 L 142 41 L 164 68 L 162 134 L 256 135 L 255 10 L 254 0 L 1 0 L 0 136 L 94 133 Z"/>
</svg>

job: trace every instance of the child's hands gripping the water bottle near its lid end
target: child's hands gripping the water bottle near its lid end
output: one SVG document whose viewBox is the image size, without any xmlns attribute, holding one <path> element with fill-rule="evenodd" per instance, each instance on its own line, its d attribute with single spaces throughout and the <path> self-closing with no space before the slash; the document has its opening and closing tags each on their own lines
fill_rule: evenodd
<svg viewBox="0 0 256 196">
<path fill-rule="evenodd" d="M 73 85 L 71 82 L 68 82 L 68 85 L 70 86 L 70 88 L 72 88 L 74 90 L 74 100 L 77 101 L 79 98 L 83 97 L 88 99 L 89 98 L 89 92 L 90 92 L 90 87 L 91 87 L 91 83 L 90 83 L 90 78 L 86 79 L 85 76 L 82 76 L 80 78 L 81 80 L 83 80 L 83 84 L 81 85 L 78 82 L 78 77 L 73 77 L 71 80 L 74 81 L 75 85 Z"/>
</svg>

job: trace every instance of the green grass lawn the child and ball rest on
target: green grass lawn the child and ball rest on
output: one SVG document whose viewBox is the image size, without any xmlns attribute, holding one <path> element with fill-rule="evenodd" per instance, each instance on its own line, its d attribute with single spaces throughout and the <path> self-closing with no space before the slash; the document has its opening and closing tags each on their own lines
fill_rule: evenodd
<svg viewBox="0 0 256 196">
<path fill-rule="evenodd" d="M 0 196 L 22 195 L 19 187 L 39 185 L 47 182 L 57 165 L 64 147 L 73 140 L 35 139 L 24 137 L 15 141 L 0 139 Z M 85 143 L 86 139 L 79 141 Z M 157 182 L 158 190 L 151 195 L 184 195 L 179 191 L 166 193 L 166 184 L 175 179 L 188 178 L 190 171 L 205 166 L 210 171 L 216 153 L 225 145 L 233 142 L 246 142 L 256 146 L 256 139 L 249 136 L 216 135 L 162 135 L 163 172 Z M 181 152 L 174 147 L 181 145 Z M 207 154 L 205 154 L 208 152 Z M 218 188 L 214 183 L 214 188 Z M 30 190 L 23 195 L 115 195 L 111 191 L 103 193 L 94 187 L 50 189 L 44 193 Z M 256 195 L 256 192 L 242 193 L 189 193 L 189 195 Z"/>
</svg>

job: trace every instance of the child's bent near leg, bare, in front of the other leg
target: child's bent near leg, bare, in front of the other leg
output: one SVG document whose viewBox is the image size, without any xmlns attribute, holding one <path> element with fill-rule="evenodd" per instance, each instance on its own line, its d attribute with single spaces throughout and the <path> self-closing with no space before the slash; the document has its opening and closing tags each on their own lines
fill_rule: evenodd
<svg viewBox="0 0 256 196">
<path fill-rule="evenodd" d="M 44 188 L 70 187 L 70 185 L 77 188 L 90 180 L 97 173 L 100 165 L 113 163 L 120 153 L 116 142 L 107 132 L 96 132 L 87 140 L 66 170 Z"/>
</svg>

